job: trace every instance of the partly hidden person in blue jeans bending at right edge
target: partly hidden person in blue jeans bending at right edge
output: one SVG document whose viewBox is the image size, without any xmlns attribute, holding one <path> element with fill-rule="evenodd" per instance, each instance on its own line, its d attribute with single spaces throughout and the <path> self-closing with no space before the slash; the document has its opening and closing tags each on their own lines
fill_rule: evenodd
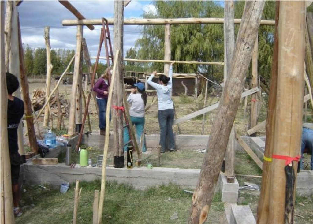
<svg viewBox="0 0 313 224">
<path fill-rule="evenodd" d="M 301 160 L 300 168 L 303 169 L 302 157 L 304 153 L 311 154 L 310 168 L 313 170 L 313 124 L 303 123 L 302 125 L 302 137 L 301 137 Z"/>
</svg>

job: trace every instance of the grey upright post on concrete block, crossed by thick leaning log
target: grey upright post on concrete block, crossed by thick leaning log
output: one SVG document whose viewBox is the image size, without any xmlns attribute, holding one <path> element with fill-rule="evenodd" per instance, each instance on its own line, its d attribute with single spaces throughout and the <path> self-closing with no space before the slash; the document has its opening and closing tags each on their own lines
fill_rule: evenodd
<svg viewBox="0 0 313 224">
<path fill-rule="evenodd" d="M 234 3 L 233 1 L 225 1 L 224 7 L 224 86 L 227 77 L 231 74 L 231 62 L 233 58 L 233 50 L 235 45 L 234 33 Z M 247 97 L 246 97 L 247 98 Z M 225 152 L 225 176 L 227 182 L 233 183 L 234 177 L 234 160 L 235 160 L 235 130 L 232 127 L 227 149 Z"/>
</svg>

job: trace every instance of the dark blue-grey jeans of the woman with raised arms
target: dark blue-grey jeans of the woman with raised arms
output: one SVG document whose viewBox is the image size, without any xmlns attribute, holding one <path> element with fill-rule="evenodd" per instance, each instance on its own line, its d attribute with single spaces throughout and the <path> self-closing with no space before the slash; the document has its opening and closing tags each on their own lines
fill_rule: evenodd
<svg viewBox="0 0 313 224">
<path fill-rule="evenodd" d="M 158 110 L 158 120 L 160 125 L 160 143 L 162 151 L 167 148 L 175 149 L 173 122 L 174 122 L 174 109 Z M 168 144 L 167 144 L 168 143 Z"/>
</svg>

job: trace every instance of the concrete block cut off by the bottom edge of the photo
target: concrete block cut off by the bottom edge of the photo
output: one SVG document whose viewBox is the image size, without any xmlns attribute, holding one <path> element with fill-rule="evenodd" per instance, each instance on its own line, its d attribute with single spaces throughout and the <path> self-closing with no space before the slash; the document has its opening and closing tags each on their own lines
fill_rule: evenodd
<svg viewBox="0 0 313 224">
<path fill-rule="evenodd" d="M 231 205 L 230 224 L 255 224 L 249 205 Z"/>
</svg>

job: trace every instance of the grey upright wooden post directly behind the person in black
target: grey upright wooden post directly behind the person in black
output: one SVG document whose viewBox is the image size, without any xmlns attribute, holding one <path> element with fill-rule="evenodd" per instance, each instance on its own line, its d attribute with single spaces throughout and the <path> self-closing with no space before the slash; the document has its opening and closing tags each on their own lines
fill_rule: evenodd
<svg viewBox="0 0 313 224">
<path fill-rule="evenodd" d="M 19 51 L 18 51 L 18 10 L 17 7 L 14 5 L 12 6 L 12 18 L 11 18 L 11 34 L 10 36 L 10 51 L 8 55 L 8 68 L 6 71 L 11 72 L 12 74 L 16 75 L 18 81 L 20 82 L 20 74 L 19 74 Z M 13 94 L 21 99 L 21 85 L 18 87 Z M 23 138 L 23 127 L 22 121 L 18 126 L 18 152 L 20 155 L 25 155 L 24 150 L 24 138 Z"/>
</svg>

